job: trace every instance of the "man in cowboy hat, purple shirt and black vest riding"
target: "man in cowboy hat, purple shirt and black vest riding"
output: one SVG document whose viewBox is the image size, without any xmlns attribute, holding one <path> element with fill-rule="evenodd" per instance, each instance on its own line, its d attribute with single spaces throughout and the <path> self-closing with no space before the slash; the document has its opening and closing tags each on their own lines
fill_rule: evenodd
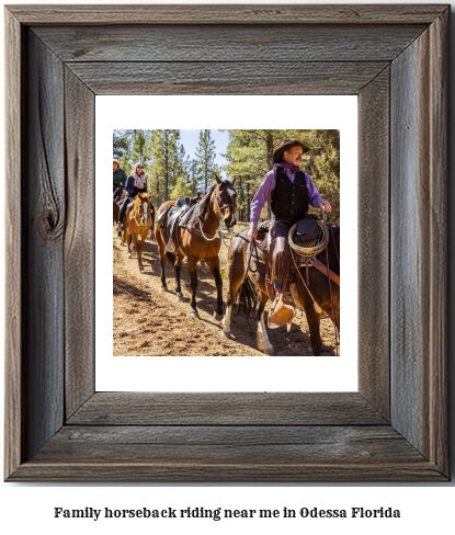
<svg viewBox="0 0 455 535">
<path fill-rule="evenodd" d="M 269 327 L 285 325 L 294 316 L 294 303 L 284 286 L 291 262 L 287 235 L 293 225 L 305 217 L 308 206 L 331 212 L 328 201 L 319 195 L 310 177 L 300 171 L 304 152 L 311 150 L 298 139 L 284 139 L 273 152 L 273 169 L 263 178 L 258 193 L 251 202 L 251 225 L 248 238 L 252 241 L 258 235 L 258 221 L 262 207 L 271 198 L 273 240 L 271 282 L 275 300 L 269 315 Z"/>
</svg>

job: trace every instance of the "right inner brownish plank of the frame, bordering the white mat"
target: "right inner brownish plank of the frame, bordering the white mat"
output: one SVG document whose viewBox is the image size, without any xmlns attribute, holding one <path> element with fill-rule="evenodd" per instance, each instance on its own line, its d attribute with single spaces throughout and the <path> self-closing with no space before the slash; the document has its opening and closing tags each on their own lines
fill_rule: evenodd
<svg viewBox="0 0 455 535">
<path fill-rule="evenodd" d="M 389 84 L 387 68 L 359 94 L 359 389 L 386 419 L 390 418 Z"/>
</svg>

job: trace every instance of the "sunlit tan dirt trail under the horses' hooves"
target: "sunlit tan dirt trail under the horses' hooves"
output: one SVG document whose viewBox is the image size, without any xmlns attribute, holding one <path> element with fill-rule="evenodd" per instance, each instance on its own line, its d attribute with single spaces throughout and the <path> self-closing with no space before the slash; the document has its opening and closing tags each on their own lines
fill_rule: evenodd
<svg viewBox="0 0 455 535">
<path fill-rule="evenodd" d="M 226 258 L 221 246 L 220 258 Z M 182 266 L 184 303 L 174 293 L 173 269 L 167 264 L 168 292 L 161 291 L 158 248 L 155 239 L 146 241 L 139 272 L 137 259 L 127 258 L 127 248 L 113 238 L 114 257 L 114 355 L 187 355 L 247 356 L 261 355 L 257 350 L 257 323 L 232 315 L 231 338 L 221 335 L 220 323 L 213 317 L 216 300 L 215 282 L 206 265 L 197 268 L 197 308 L 200 319 L 190 312 L 190 278 L 186 263 Z M 226 303 L 227 281 L 224 281 Z M 266 310 L 270 308 L 270 303 Z M 265 312 L 266 314 L 266 312 Z M 292 330 L 285 327 L 269 330 L 275 355 L 311 355 L 306 320 L 296 319 Z M 322 355 L 334 354 L 334 334 L 329 320 L 321 321 Z"/>
</svg>

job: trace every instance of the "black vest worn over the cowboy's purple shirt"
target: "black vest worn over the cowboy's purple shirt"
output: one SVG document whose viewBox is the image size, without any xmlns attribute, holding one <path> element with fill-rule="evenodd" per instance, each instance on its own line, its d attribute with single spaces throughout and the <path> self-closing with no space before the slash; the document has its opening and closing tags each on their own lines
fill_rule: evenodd
<svg viewBox="0 0 455 535">
<path fill-rule="evenodd" d="M 294 224 L 308 212 L 308 189 L 305 173 L 297 171 L 293 183 L 284 169 L 275 167 L 274 171 L 275 187 L 271 195 L 273 217 Z"/>
</svg>

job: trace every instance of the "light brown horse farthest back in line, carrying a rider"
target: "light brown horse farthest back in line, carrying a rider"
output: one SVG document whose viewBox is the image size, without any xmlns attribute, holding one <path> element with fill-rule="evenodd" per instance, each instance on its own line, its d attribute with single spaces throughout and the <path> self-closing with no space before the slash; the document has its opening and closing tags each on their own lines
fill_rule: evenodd
<svg viewBox="0 0 455 535">
<path fill-rule="evenodd" d="M 152 216 L 150 213 L 150 195 L 148 193 L 138 193 L 134 200 L 133 207 L 125 216 L 125 239 L 128 243 L 128 258 L 132 258 L 132 241 L 137 253 L 137 263 L 139 271 L 144 271 L 143 250 L 147 235 L 152 226 Z M 138 240 L 140 236 L 140 242 Z M 129 239 L 129 237 L 132 239 Z"/>
</svg>

